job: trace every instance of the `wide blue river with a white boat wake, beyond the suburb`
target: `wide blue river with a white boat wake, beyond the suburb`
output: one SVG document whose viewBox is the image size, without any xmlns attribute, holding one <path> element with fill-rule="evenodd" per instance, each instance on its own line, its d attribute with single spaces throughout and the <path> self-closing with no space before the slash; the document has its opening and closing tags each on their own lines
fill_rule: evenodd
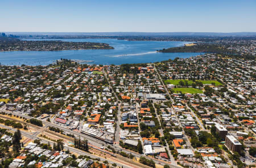
<svg viewBox="0 0 256 168">
<path fill-rule="evenodd" d="M 52 39 L 23 39 L 52 40 Z M 156 50 L 183 46 L 184 41 L 126 41 L 105 38 L 54 39 L 75 42 L 104 42 L 112 50 L 64 50 L 64 51 L 5 51 L 0 52 L 0 63 L 5 65 L 47 65 L 56 59 L 80 59 L 94 61 L 93 64 L 150 63 L 167 59 L 189 58 L 200 53 L 156 53 Z M 203 54 L 203 53 L 202 53 Z"/>
</svg>

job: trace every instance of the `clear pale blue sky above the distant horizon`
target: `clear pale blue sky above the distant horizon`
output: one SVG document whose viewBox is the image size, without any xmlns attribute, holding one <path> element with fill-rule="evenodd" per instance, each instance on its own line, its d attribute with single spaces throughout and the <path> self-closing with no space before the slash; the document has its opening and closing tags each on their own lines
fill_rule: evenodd
<svg viewBox="0 0 256 168">
<path fill-rule="evenodd" d="M 256 32 L 256 0 L 1 0 L 0 32 Z"/>
</svg>

